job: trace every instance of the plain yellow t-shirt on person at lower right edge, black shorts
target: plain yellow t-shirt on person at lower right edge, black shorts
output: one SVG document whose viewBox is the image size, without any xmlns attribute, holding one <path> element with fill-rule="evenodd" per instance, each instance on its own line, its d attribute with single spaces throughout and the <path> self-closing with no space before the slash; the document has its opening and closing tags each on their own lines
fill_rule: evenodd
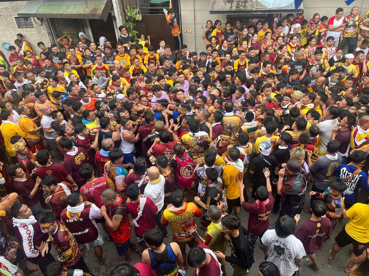
<svg viewBox="0 0 369 276">
<path fill-rule="evenodd" d="M 350 221 L 345 226 L 346 233 L 359 243 L 368 243 L 369 206 L 356 203 L 346 211 L 346 215 L 350 218 Z"/>
</svg>

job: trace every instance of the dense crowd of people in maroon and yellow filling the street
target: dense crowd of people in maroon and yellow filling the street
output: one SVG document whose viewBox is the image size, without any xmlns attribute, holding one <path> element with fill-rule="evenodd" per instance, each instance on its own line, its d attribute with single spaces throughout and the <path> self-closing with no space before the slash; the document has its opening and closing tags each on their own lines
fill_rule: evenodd
<svg viewBox="0 0 369 276">
<path fill-rule="evenodd" d="M 164 13 L 175 49 L 120 26 L 0 57 L 0 275 L 93 275 L 113 241 L 111 276 L 296 276 L 344 219 L 328 259 L 368 275 L 369 15 L 208 20 L 197 53 Z"/>
</svg>

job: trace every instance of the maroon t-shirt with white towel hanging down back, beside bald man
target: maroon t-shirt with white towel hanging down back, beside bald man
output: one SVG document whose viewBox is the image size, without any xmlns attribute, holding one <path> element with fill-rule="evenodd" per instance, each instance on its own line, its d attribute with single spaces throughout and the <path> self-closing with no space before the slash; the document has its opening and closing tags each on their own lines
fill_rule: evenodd
<svg viewBox="0 0 369 276">
<path fill-rule="evenodd" d="M 127 211 L 131 214 L 133 219 L 137 217 L 138 210 L 139 201 L 135 203 L 127 202 Z M 154 214 L 156 212 L 158 212 L 158 207 L 156 207 L 155 203 L 147 197 L 142 215 L 137 220 L 138 227 L 135 226 L 136 235 L 142 236 L 147 230 L 155 228 L 156 222 L 154 219 Z"/>
</svg>

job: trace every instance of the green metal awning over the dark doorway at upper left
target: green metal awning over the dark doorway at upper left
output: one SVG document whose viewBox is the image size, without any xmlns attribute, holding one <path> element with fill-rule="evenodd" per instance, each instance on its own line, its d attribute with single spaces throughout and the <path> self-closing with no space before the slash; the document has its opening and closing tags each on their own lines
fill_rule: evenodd
<svg viewBox="0 0 369 276">
<path fill-rule="evenodd" d="M 34 0 L 28 1 L 20 17 L 84 18 L 106 21 L 113 7 L 111 0 Z"/>
</svg>

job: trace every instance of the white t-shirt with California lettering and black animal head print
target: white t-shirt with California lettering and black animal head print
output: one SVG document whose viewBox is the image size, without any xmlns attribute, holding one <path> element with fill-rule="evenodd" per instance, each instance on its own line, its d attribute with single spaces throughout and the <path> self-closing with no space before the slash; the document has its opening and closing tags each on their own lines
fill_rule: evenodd
<svg viewBox="0 0 369 276">
<path fill-rule="evenodd" d="M 268 246 L 268 261 L 273 262 L 283 276 L 291 276 L 298 270 L 295 258 L 301 259 L 306 255 L 304 245 L 293 235 L 280 238 L 276 231 L 266 230 L 261 238 L 263 245 Z"/>
</svg>

